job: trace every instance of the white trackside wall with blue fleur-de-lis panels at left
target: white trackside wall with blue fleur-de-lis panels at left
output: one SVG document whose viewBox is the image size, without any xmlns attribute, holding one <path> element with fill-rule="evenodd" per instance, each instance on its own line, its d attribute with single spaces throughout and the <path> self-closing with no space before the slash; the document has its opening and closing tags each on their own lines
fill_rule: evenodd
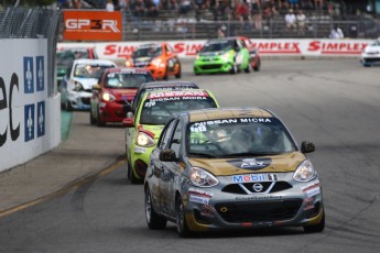
<svg viewBox="0 0 380 253">
<path fill-rule="evenodd" d="M 61 97 L 48 97 L 47 40 L 0 40 L 0 172 L 61 142 Z"/>
</svg>

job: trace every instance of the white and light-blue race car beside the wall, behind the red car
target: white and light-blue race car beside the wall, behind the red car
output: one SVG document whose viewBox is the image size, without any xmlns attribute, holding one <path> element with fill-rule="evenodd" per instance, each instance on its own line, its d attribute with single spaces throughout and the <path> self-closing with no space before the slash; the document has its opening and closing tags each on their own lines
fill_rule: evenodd
<svg viewBox="0 0 380 253">
<path fill-rule="evenodd" d="M 58 87 L 61 105 L 70 111 L 89 110 L 93 86 L 106 68 L 117 67 L 108 59 L 75 59 Z"/>
</svg>

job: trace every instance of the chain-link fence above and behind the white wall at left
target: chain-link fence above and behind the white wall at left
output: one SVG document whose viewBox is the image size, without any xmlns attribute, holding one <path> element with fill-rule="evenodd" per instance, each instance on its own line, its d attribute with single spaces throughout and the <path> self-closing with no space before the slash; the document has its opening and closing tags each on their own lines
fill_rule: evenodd
<svg viewBox="0 0 380 253">
<path fill-rule="evenodd" d="M 0 12 L 1 38 L 47 38 L 47 92 L 53 96 L 55 52 L 62 23 L 62 12 L 47 9 L 7 8 Z M 4 59 L 3 59 L 4 61 Z"/>
</svg>

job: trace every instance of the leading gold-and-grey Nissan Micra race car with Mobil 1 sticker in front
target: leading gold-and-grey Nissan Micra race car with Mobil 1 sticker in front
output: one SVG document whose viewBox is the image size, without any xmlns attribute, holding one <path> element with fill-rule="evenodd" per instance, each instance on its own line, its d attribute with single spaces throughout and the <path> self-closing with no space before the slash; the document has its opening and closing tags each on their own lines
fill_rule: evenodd
<svg viewBox="0 0 380 253">
<path fill-rule="evenodd" d="M 195 232 L 274 227 L 325 228 L 318 175 L 282 121 L 263 108 L 224 108 L 172 117 L 144 180 L 149 229 Z"/>
</svg>

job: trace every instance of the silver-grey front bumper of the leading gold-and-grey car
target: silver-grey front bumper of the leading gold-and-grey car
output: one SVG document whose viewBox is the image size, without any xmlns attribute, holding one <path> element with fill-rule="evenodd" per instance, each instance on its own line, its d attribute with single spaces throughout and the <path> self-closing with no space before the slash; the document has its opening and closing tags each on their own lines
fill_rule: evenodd
<svg viewBox="0 0 380 253">
<path fill-rule="evenodd" d="M 285 185 L 284 182 L 286 180 L 272 182 L 272 189 L 281 189 L 275 185 Z M 224 185 L 222 189 L 194 186 L 187 188 L 184 202 L 186 221 L 192 231 L 301 227 L 318 223 L 324 215 L 323 196 L 317 179 L 262 194 L 236 194 L 236 186 L 226 188 L 225 184 L 220 185 Z M 314 191 L 305 191 L 305 185 L 314 187 Z"/>
</svg>

